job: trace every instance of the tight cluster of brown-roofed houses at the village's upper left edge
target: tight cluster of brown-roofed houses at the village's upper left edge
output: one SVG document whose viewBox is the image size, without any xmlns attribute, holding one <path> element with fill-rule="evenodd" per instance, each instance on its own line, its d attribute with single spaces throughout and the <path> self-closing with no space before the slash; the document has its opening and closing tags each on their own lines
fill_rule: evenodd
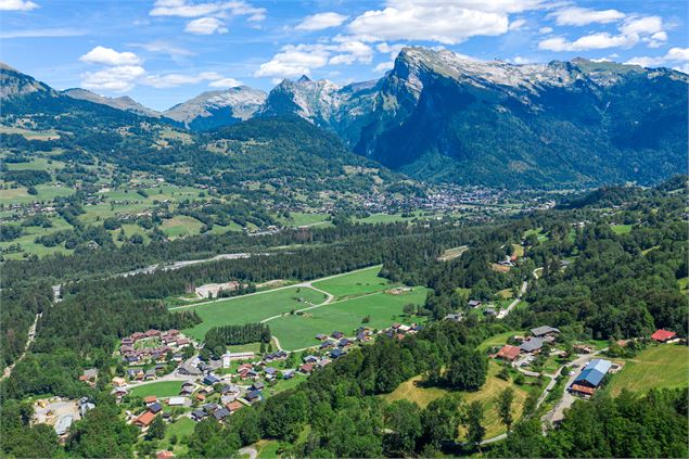
<svg viewBox="0 0 689 459">
<path fill-rule="evenodd" d="M 137 343 L 151 342 L 157 345 L 141 345 Z M 148 344 L 148 343 L 146 343 Z M 178 330 L 149 330 L 136 332 L 120 340 L 119 354 L 128 364 L 141 364 L 145 361 L 165 361 L 168 352 L 175 352 L 182 346 L 191 344 L 191 340 L 180 334 Z M 177 356 L 181 361 L 181 355 Z"/>
</svg>

